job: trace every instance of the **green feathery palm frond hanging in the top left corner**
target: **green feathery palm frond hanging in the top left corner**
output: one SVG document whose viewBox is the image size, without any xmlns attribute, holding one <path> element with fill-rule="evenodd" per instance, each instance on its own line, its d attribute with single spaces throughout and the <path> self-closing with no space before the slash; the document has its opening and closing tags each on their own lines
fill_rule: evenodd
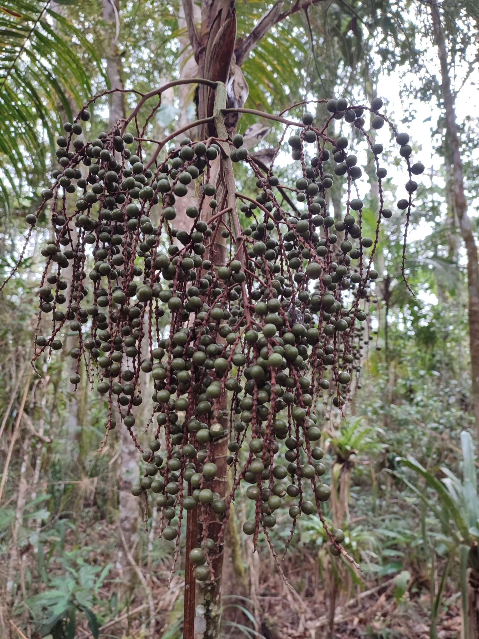
<svg viewBox="0 0 479 639">
<path fill-rule="evenodd" d="M 0 2 L 0 201 L 18 198 L 27 179 L 45 171 L 62 118 L 91 95 L 84 59 L 105 78 L 100 58 L 50 0 Z"/>
</svg>

